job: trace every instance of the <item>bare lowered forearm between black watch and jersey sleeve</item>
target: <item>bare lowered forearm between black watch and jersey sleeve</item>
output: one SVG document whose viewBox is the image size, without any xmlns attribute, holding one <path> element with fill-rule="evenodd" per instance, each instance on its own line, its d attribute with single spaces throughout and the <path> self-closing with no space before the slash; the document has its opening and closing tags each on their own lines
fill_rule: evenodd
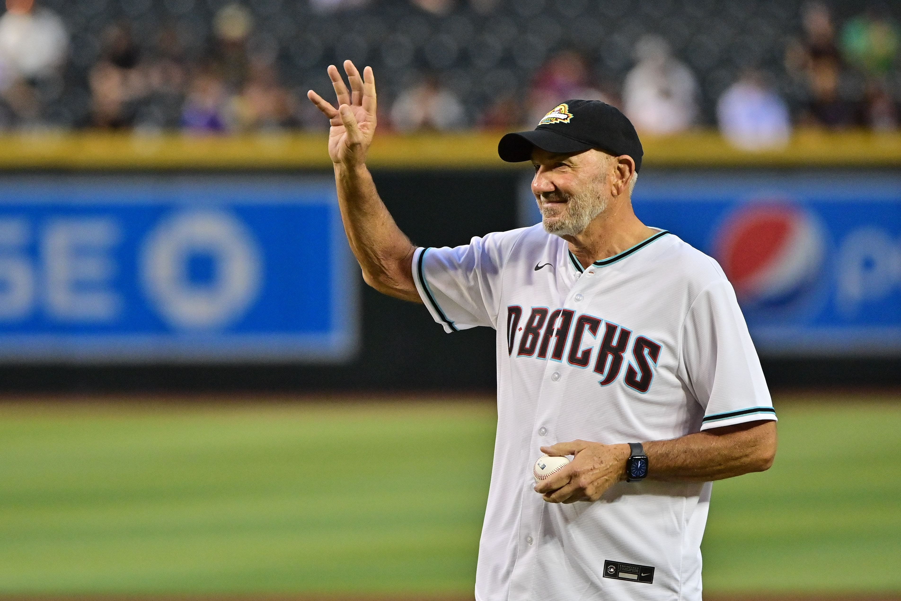
<svg viewBox="0 0 901 601">
<path fill-rule="evenodd" d="M 769 469 L 776 455 L 776 423 L 742 423 L 643 446 L 649 478 L 722 480 Z"/>
</svg>

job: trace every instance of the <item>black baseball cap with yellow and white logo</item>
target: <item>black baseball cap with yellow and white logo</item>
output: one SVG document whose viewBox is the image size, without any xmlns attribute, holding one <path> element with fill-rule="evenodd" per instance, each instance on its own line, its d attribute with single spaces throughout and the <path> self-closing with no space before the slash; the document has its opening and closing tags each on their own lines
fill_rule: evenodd
<svg viewBox="0 0 901 601">
<path fill-rule="evenodd" d="M 642 141 L 629 119 L 615 106 L 600 100 L 567 100 L 544 115 L 532 132 L 508 133 L 497 144 L 497 154 L 508 163 L 532 158 L 532 149 L 582 152 L 592 148 L 618 157 L 627 154 L 642 168 Z"/>
</svg>

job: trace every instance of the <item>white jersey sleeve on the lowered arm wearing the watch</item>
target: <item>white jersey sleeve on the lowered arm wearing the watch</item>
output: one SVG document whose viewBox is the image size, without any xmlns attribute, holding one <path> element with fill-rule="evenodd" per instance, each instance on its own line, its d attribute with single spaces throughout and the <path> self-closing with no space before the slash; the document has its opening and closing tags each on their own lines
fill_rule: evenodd
<svg viewBox="0 0 901 601">
<path fill-rule="evenodd" d="M 697 296 L 682 335 L 679 372 L 704 407 L 701 430 L 776 420 L 760 359 L 727 279 Z"/>
</svg>

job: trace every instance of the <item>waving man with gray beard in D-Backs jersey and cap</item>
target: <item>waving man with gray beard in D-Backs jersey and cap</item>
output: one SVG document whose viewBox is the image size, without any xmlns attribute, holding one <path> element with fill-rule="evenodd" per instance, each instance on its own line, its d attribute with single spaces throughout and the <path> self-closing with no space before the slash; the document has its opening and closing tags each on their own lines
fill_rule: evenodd
<svg viewBox="0 0 901 601">
<path fill-rule="evenodd" d="M 542 223 L 418 248 L 376 192 L 372 69 L 329 77 L 341 217 L 369 286 L 446 332 L 496 329 L 497 437 L 477 601 L 701 599 L 712 481 L 769 469 L 776 414 L 716 261 L 642 223 L 642 143 L 613 106 L 569 100 L 507 161 L 532 162 Z M 541 453 L 556 460 L 559 469 Z M 537 460 L 537 461 L 536 461 Z M 532 477 L 538 481 L 536 484 Z"/>
</svg>

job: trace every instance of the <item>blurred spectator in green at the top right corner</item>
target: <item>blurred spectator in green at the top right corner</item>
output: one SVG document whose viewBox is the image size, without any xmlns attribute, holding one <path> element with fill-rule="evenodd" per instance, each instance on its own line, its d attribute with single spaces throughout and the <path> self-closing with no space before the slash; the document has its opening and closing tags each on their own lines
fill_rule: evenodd
<svg viewBox="0 0 901 601">
<path fill-rule="evenodd" d="M 882 7 L 871 7 L 842 27 L 845 59 L 869 77 L 883 79 L 894 66 L 901 46 L 898 26 Z"/>
</svg>

